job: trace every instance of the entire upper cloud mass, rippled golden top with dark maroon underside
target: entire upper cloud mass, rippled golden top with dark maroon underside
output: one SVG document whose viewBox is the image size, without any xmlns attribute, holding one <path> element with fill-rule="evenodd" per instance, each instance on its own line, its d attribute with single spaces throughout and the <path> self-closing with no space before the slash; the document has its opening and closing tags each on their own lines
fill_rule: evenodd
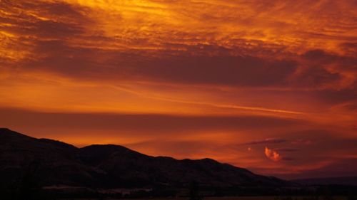
<svg viewBox="0 0 357 200">
<path fill-rule="evenodd" d="M 286 51 L 290 46 L 298 45 L 294 41 L 304 41 L 306 38 L 304 35 L 296 36 L 295 23 L 281 21 L 280 16 L 276 17 L 269 13 L 276 14 L 277 11 L 274 9 L 276 6 L 289 10 L 291 8 L 287 5 L 291 3 L 266 4 L 255 1 L 254 4 L 246 2 L 242 5 L 221 4 L 217 1 L 215 4 L 193 4 L 190 9 L 198 10 L 186 12 L 180 9 L 184 4 L 169 4 L 166 1 L 146 2 L 153 11 L 164 6 L 167 13 L 162 15 L 176 21 L 178 25 L 173 26 L 172 21 L 171 23 L 170 20 L 161 21 L 162 17 L 156 18 L 156 15 L 140 18 L 141 15 L 148 16 L 146 11 L 135 13 L 140 20 L 136 20 L 135 16 L 133 19 L 133 13 L 124 10 L 127 6 L 130 8 L 138 6 L 143 9 L 141 5 L 134 3 L 110 5 L 46 1 L 36 3 L 26 1 L 26 4 L 4 2 L 4 10 L 9 9 L 9 11 L 6 12 L 7 15 L 2 16 L 2 21 L 11 26 L 0 28 L 4 33 L 14 35 L 6 38 L 9 39 L 9 45 L 6 46 L 14 52 L 26 51 L 28 54 L 13 63 L 16 70 L 21 73 L 38 70 L 99 82 L 105 79 L 253 88 L 338 87 L 341 89 L 348 88 L 352 84 L 350 83 L 352 80 L 348 82 L 346 76 L 353 79 L 353 74 L 346 75 L 345 70 L 356 71 L 357 61 L 352 56 L 337 55 L 316 48 L 304 48 L 303 51 L 306 53 L 302 56 L 300 52 Z M 311 3 L 306 2 L 306 4 Z M 220 12 L 211 12 L 213 5 L 220 7 Z M 348 2 L 341 2 L 338 5 L 346 6 Z M 245 9 L 238 10 L 247 11 L 248 16 L 243 18 L 244 15 L 238 15 L 236 12 L 232 15 L 231 11 L 241 6 Z M 306 9 L 300 4 L 291 6 L 297 12 Z M 319 15 L 310 17 L 318 18 L 329 26 L 331 20 L 322 14 L 334 13 L 335 11 L 330 9 L 332 5 L 323 2 L 321 5 L 311 4 L 311 6 Z M 262 15 L 269 16 L 268 21 L 260 15 L 253 14 L 256 12 L 261 14 L 262 8 L 266 11 Z M 281 9 L 278 13 L 284 16 L 291 14 L 287 10 Z M 21 14 L 19 11 L 22 11 Z M 198 14 L 193 15 L 197 11 Z M 122 16 L 126 17 L 126 21 L 122 20 Z M 298 20 L 294 16 L 286 17 Z M 112 18 L 115 24 L 108 18 Z M 225 31 L 212 32 L 206 20 L 203 23 L 203 19 L 207 18 L 215 19 L 212 21 L 214 26 L 226 27 L 226 21 L 237 23 L 238 30 L 233 33 L 226 30 L 227 35 L 221 36 Z M 182 21 L 178 19 L 191 19 L 201 24 L 203 29 L 188 31 L 196 28 L 190 27 L 186 20 L 185 23 L 181 23 Z M 121 26 L 117 26 L 118 20 L 123 22 Z M 341 19 L 335 20 L 335 26 L 338 26 L 341 21 L 351 19 L 348 15 L 343 15 Z M 137 27 L 141 24 L 146 24 L 145 31 L 138 30 Z M 305 23 L 301 25 L 303 24 Z M 338 28 L 350 27 L 347 24 L 349 23 Z M 254 26 L 254 30 L 258 28 L 258 33 L 246 31 L 249 30 L 247 26 Z M 292 43 L 267 39 L 281 38 L 281 26 L 286 28 L 288 32 L 285 33 L 286 36 L 291 37 L 291 40 L 286 41 Z M 292 33 L 289 32 L 290 26 L 295 27 Z M 223 27 L 221 29 L 224 29 Z M 308 27 L 316 28 L 312 24 Z M 305 30 L 306 27 L 298 29 Z M 319 33 L 325 30 L 325 28 L 318 29 L 321 30 L 313 29 L 313 32 Z M 118 35 L 118 33 L 122 34 Z M 241 37 L 239 39 L 233 37 L 236 34 Z M 273 35 L 269 36 L 269 34 Z M 254 35 L 257 35 L 256 38 L 247 38 Z M 336 36 L 331 37 L 336 38 Z M 314 39 L 318 40 L 318 38 Z M 351 42 L 344 41 L 341 46 L 351 46 L 348 43 Z M 303 46 L 305 44 L 303 42 Z M 328 65 L 331 63 L 338 67 L 329 68 Z M 7 65 L 2 70 L 11 71 L 14 66 Z"/>
</svg>

